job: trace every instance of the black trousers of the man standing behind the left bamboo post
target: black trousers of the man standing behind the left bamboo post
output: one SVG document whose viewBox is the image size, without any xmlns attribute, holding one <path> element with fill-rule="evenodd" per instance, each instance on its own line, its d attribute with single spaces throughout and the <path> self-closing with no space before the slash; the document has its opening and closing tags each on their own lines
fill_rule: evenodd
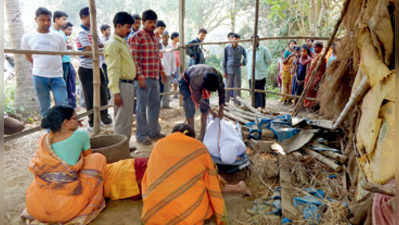
<svg viewBox="0 0 399 225">
<path fill-rule="evenodd" d="M 108 104 L 107 100 L 107 86 L 105 84 L 105 77 L 102 71 L 100 70 L 100 78 L 101 78 L 101 86 L 100 86 L 100 101 L 101 106 L 105 106 Z M 85 96 L 86 109 L 87 111 L 93 109 L 93 69 L 86 69 L 79 67 L 79 79 L 82 83 L 83 93 Z M 108 116 L 108 110 L 101 111 L 101 118 Z M 93 122 L 93 114 L 89 115 L 89 123 Z"/>
</svg>

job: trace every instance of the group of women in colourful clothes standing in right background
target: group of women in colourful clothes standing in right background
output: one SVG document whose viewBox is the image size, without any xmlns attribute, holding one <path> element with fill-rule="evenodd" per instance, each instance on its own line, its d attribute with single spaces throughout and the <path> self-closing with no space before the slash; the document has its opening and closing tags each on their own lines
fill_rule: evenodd
<svg viewBox="0 0 399 225">
<path fill-rule="evenodd" d="M 309 85 L 305 97 L 316 98 L 319 90 L 320 81 L 328 66 L 336 59 L 335 44 L 327 52 L 326 58 L 321 60 L 320 67 L 317 69 L 317 63 L 322 57 L 323 43 L 307 39 L 303 46 L 298 46 L 295 40 L 288 43 L 287 49 L 281 54 L 279 60 L 279 83 L 281 97 L 284 104 L 296 103 L 297 98 L 290 96 L 302 95 L 304 88 Z M 317 69 L 317 71 L 315 71 Z M 314 73 L 314 79 L 311 75 Z M 309 111 L 317 111 L 318 104 L 309 99 L 304 100 L 303 106 Z"/>
</svg>

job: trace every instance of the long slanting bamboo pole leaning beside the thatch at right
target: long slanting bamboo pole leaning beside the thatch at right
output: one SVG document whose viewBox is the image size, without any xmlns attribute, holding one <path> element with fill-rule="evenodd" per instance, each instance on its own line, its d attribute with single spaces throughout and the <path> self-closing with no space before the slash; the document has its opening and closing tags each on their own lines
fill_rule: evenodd
<svg viewBox="0 0 399 225">
<path fill-rule="evenodd" d="M 312 73 L 310 74 L 309 82 L 308 82 L 307 85 L 305 86 L 305 88 L 304 88 L 304 90 L 303 90 L 303 92 L 302 92 L 301 97 L 299 98 L 298 102 L 296 103 L 295 108 L 294 108 L 294 111 L 292 112 L 292 116 L 296 116 L 296 115 L 298 114 L 298 111 L 301 109 L 302 104 L 303 104 L 304 97 L 305 97 L 306 93 L 308 92 L 308 90 L 309 90 L 309 88 L 310 88 L 310 85 L 313 83 L 313 81 L 314 81 L 314 79 L 315 79 L 315 77 L 316 77 L 316 73 L 317 73 L 317 71 L 319 70 L 322 61 L 325 60 L 325 57 L 326 57 L 326 55 L 327 55 L 327 52 L 328 52 L 329 48 L 331 47 L 331 44 L 333 43 L 333 41 L 334 41 L 334 39 L 335 39 L 335 36 L 337 35 L 338 28 L 340 27 L 340 25 L 341 25 L 341 23 L 342 23 L 342 20 L 344 19 L 344 16 L 345 16 L 346 12 L 348 11 L 349 3 L 350 3 L 350 0 L 346 0 L 346 1 L 345 1 L 344 6 L 343 6 L 343 8 L 342 8 L 341 16 L 339 17 L 337 23 L 335 24 L 334 31 L 333 31 L 333 33 L 332 33 L 330 39 L 328 40 L 327 47 L 325 48 L 325 50 L 324 50 L 324 52 L 323 52 L 323 55 L 322 55 L 322 57 L 320 58 L 320 60 L 317 62 L 317 66 L 315 67 L 315 69 L 314 69 L 314 70 L 312 71 Z"/>
</svg>

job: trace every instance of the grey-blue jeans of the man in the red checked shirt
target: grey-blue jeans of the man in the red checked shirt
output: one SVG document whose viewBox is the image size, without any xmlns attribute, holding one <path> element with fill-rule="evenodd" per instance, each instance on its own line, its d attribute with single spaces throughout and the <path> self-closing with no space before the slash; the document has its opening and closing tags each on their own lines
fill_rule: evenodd
<svg viewBox="0 0 399 225">
<path fill-rule="evenodd" d="M 147 87 L 139 87 L 138 81 L 134 82 L 136 89 L 136 139 L 143 141 L 147 137 L 157 137 L 161 132 L 159 125 L 159 111 L 161 101 L 159 98 L 159 80 L 146 79 Z"/>
</svg>

